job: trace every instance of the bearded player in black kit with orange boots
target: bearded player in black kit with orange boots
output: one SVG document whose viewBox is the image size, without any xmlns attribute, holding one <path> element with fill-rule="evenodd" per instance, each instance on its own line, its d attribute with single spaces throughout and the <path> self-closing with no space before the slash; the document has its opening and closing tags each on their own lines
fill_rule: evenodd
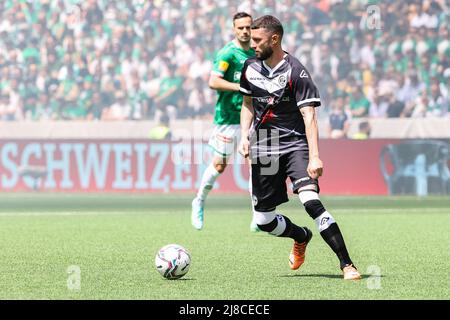
<svg viewBox="0 0 450 320">
<path fill-rule="evenodd" d="M 315 110 L 320 106 L 319 92 L 305 67 L 283 51 L 283 26 L 278 19 L 262 16 L 251 29 L 256 58 L 246 60 L 241 74 L 244 101 L 239 152 L 252 160 L 254 220 L 262 231 L 294 240 L 289 266 L 298 269 L 312 232 L 276 211 L 288 201 L 289 177 L 293 192 L 337 255 L 344 279 L 361 279 L 336 221 L 319 199 L 318 178 L 323 172 Z"/>
</svg>

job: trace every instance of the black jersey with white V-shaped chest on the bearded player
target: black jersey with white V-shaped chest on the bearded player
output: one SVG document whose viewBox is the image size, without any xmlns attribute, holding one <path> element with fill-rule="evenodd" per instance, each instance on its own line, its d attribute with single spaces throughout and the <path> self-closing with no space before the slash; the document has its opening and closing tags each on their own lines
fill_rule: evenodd
<svg viewBox="0 0 450 320">
<path fill-rule="evenodd" d="M 255 117 L 251 134 L 252 154 L 284 154 L 307 148 L 300 108 L 320 106 L 320 96 L 306 68 L 290 54 L 273 69 L 264 61 L 247 59 L 240 92 L 252 97 Z M 262 130 L 266 129 L 266 130 Z M 256 151 L 256 152 L 255 152 Z"/>
</svg>

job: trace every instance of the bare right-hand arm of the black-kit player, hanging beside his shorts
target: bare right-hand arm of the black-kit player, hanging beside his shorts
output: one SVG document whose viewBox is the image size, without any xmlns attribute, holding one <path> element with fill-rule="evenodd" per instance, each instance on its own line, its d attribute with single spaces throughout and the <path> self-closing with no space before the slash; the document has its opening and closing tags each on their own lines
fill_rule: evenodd
<svg viewBox="0 0 450 320">
<path fill-rule="evenodd" d="M 319 129 L 317 126 L 316 108 L 306 106 L 300 109 L 305 122 L 306 139 L 309 146 L 308 174 L 317 179 L 323 173 L 323 163 L 319 158 Z"/>
</svg>

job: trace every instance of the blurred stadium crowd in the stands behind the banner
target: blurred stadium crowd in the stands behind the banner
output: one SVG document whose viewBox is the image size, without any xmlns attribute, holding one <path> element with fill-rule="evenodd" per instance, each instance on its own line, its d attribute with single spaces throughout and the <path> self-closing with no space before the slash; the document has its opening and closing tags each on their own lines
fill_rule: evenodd
<svg viewBox="0 0 450 320">
<path fill-rule="evenodd" d="M 332 126 L 450 115 L 448 0 L 4 0 L 0 119 L 212 118 L 237 11 L 282 21 Z"/>
</svg>

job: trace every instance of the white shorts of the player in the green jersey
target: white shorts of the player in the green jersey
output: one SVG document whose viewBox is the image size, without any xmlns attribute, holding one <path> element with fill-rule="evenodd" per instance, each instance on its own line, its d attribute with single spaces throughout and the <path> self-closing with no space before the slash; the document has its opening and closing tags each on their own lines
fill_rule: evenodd
<svg viewBox="0 0 450 320">
<path fill-rule="evenodd" d="M 241 126 L 238 124 L 221 124 L 214 127 L 208 144 L 214 153 L 221 157 L 228 157 L 236 149 L 241 138 Z"/>
</svg>

